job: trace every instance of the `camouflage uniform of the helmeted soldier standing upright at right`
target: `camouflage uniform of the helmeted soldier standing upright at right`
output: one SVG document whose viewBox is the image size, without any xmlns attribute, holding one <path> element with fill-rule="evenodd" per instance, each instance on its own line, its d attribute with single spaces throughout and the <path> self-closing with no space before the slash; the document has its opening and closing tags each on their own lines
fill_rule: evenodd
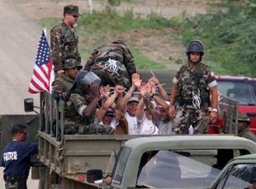
<svg viewBox="0 0 256 189">
<path fill-rule="evenodd" d="M 217 85 L 213 73 L 199 62 L 194 70 L 189 65 L 181 66 L 173 79 L 177 84 L 176 116 L 173 120 L 174 134 L 188 134 L 189 127 L 194 127 L 195 134 L 207 133 L 208 131 L 208 107 L 210 107 L 210 87 Z M 198 90 L 199 89 L 199 90 Z M 200 95 L 200 108 L 195 108 L 192 103 L 192 92 Z"/>
</svg>

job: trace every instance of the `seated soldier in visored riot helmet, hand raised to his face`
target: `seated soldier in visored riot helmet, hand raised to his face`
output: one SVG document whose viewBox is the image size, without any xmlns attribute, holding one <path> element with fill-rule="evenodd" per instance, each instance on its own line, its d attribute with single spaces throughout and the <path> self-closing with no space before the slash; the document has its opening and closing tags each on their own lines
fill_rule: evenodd
<svg viewBox="0 0 256 189">
<path fill-rule="evenodd" d="M 65 134 L 114 134 L 110 126 L 93 124 L 99 99 L 100 78 L 82 71 L 75 77 L 74 86 L 64 97 Z"/>
</svg>

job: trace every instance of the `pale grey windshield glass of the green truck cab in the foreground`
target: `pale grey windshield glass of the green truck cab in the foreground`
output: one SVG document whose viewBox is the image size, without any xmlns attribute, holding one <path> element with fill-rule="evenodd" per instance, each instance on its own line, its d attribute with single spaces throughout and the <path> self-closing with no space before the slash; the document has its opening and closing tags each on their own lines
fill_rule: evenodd
<svg viewBox="0 0 256 189">
<path fill-rule="evenodd" d="M 159 151 L 143 166 L 137 185 L 150 188 L 209 187 L 220 170 L 187 156 L 174 151 Z"/>
</svg>

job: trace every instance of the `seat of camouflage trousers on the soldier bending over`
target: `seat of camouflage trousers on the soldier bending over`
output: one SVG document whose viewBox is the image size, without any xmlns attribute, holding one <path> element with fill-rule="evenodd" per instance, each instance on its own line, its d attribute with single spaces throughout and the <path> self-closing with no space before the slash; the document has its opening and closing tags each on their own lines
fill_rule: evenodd
<svg viewBox="0 0 256 189">
<path fill-rule="evenodd" d="M 114 87 L 118 84 L 126 87 L 127 90 L 130 89 L 129 79 L 127 79 L 122 72 L 120 75 L 117 75 L 116 73 L 109 73 L 107 70 L 102 70 L 102 68 L 93 68 L 91 71 L 101 79 L 101 84 L 103 86 L 109 85 Z"/>
</svg>

